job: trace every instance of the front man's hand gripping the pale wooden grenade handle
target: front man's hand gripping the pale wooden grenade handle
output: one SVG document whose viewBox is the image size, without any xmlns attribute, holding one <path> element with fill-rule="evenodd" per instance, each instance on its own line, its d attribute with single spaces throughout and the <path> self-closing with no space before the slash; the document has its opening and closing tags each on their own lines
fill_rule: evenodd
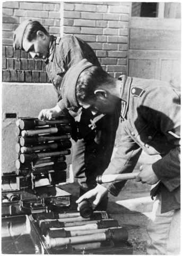
<svg viewBox="0 0 182 256">
<path fill-rule="evenodd" d="M 144 164 L 140 166 L 140 173 L 137 175 L 136 181 L 148 183 L 149 185 L 153 185 L 159 181 L 159 178 L 155 175 L 152 169 L 152 164 Z"/>
</svg>

